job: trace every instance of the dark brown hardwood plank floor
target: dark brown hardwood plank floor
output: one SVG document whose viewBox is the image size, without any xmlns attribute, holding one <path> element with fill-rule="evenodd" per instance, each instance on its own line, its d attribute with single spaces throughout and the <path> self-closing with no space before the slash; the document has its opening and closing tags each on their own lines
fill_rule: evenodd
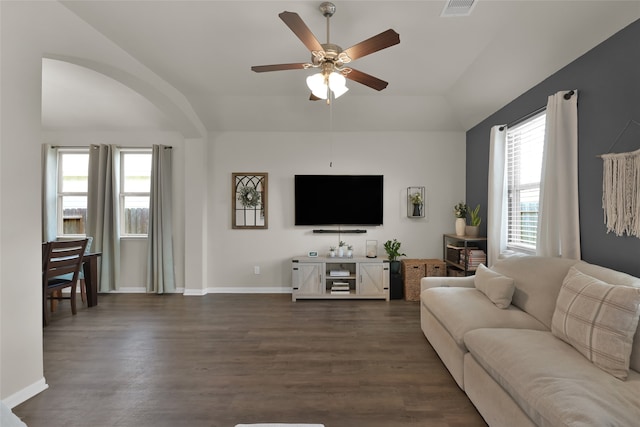
<svg viewBox="0 0 640 427">
<path fill-rule="evenodd" d="M 485 426 L 420 330 L 417 302 L 100 295 L 44 329 L 29 427 Z"/>
</svg>

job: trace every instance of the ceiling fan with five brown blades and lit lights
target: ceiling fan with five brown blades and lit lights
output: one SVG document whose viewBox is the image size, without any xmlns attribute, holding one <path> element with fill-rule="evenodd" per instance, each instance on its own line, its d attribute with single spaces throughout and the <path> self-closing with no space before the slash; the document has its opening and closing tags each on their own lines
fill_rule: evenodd
<svg viewBox="0 0 640 427">
<path fill-rule="evenodd" d="M 369 86 L 375 90 L 386 88 L 389 83 L 377 77 L 347 67 L 351 61 L 371 53 L 386 49 L 400 43 L 400 35 L 394 30 L 384 31 L 367 40 L 342 50 L 329 39 L 330 19 L 336 11 L 336 6 L 330 2 L 320 4 L 320 11 L 327 18 L 327 42 L 320 43 L 309 27 L 297 13 L 282 12 L 278 16 L 298 36 L 302 43 L 311 51 L 311 62 L 296 62 L 292 64 L 256 65 L 251 67 L 256 73 L 267 71 L 298 70 L 318 68 L 319 72 L 307 77 L 307 86 L 311 89 L 309 99 L 326 99 L 330 102 L 331 95 L 339 97 L 349 90 L 345 85 L 345 78 Z"/>
</svg>

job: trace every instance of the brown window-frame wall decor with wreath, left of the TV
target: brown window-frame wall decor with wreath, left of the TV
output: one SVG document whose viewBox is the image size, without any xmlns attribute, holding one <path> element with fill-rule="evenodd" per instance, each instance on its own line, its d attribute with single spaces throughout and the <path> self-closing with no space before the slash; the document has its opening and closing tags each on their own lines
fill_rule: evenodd
<svg viewBox="0 0 640 427">
<path fill-rule="evenodd" d="M 267 178 L 263 172 L 234 172 L 231 177 L 233 228 L 268 228 Z"/>
</svg>

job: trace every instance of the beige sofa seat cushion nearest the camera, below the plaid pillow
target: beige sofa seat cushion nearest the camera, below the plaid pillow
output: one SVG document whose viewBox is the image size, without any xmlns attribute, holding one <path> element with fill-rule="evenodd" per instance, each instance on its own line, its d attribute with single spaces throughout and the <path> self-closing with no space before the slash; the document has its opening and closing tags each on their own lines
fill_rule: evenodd
<svg viewBox="0 0 640 427">
<path fill-rule="evenodd" d="M 632 426 L 640 420 L 640 374 L 620 381 L 549 331 L 476 329 L 473 358 L 539 426 Z"/>
</svg>

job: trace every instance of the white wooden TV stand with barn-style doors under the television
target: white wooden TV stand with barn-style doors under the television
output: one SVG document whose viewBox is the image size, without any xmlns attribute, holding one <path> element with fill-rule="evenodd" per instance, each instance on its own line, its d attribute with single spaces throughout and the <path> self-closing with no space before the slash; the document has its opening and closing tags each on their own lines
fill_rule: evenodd
<svg viewBox="0 0 640 427">
<path fill-rule="evenodd" d="M 389 301 L 389 261 L 384 258 L 296 257 L 291 299 Z"/>
</svg>

